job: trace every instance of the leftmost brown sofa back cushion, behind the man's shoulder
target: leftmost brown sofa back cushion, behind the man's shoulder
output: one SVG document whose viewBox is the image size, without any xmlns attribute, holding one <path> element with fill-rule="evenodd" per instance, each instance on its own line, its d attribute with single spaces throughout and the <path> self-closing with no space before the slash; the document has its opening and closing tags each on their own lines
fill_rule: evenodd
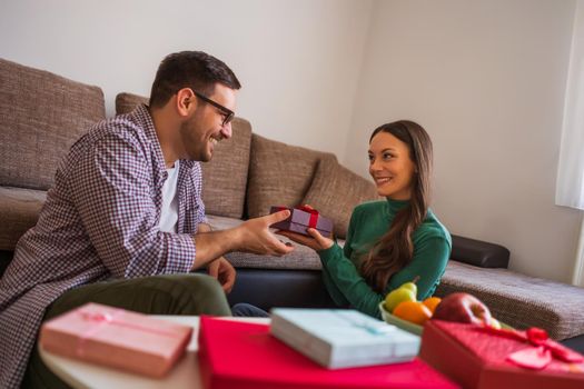
<svg viewBox="0 0 584 389">
<path fill-rule="evenodd" d="M 48 189 L 71 144 L 105 117 L 100 88 L 0 59 L 0 184 Z"/>
</svg>

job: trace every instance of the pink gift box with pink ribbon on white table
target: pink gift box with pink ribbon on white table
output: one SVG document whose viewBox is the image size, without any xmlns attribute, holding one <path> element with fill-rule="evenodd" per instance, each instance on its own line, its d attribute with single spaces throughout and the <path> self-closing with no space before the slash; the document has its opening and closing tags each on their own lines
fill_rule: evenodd
<svg viewBox="0 0 584 389">
<path fill-rule="evenodd" d="M 192 327 L 87 303 L 44 322 L 47 351 L 160 378 L 185 353 Z"/>
</svg>

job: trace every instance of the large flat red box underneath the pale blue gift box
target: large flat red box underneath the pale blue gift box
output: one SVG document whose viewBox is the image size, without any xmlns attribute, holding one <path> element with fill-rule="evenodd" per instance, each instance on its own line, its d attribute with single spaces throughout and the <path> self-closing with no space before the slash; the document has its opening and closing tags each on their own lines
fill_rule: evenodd
<svg viewBox="0 0 584 389">
<path fill-rule="evenodd" d="M 201 317 L 199 371 L 206 389 L 458 388 L 419 359 L 329 370 L 269 333 L 269 325 Z"/>
</svg>

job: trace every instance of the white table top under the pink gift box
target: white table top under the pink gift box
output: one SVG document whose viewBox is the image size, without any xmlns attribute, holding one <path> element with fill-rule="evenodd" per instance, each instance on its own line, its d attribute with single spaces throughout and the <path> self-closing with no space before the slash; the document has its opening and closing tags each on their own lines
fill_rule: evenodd
<svg viewBox="0 0 584 389">
<path fill-rule="evenodd" d="M 197 316 L 154 316 L 156 318 L 176 321 L 192 326 L 192 338 L 187 347 L 186 356 L 162 379 L 154 379 L 143 376 L 115 370 L 98 365 L 86 363 L 75 359 L 59 357 L 39 347 L 42 361 L 59 378 L 73 388 L 165 388 L 165 389 L 200 389 L 199 363 L 197 360 L 199 317 Z M 227 318 L 226 318 L 227 319 Z M 250 322 L 269 323 L 266 318 L 229 318 L 229 320 L 241 320 Z"/>
</svg>

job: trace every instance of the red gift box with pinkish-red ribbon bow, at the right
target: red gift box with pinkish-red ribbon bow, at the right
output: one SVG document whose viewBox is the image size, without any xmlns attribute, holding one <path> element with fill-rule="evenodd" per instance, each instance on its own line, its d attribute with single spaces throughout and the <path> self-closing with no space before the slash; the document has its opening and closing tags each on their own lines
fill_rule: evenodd
<svg viewBox="0 0 584 389">
<path fill-rule="evenodd" d="M 584 359 L 541 329 L 429 320 L 419 357 L 464 388 L 584 388 Z"/>
</svg>

